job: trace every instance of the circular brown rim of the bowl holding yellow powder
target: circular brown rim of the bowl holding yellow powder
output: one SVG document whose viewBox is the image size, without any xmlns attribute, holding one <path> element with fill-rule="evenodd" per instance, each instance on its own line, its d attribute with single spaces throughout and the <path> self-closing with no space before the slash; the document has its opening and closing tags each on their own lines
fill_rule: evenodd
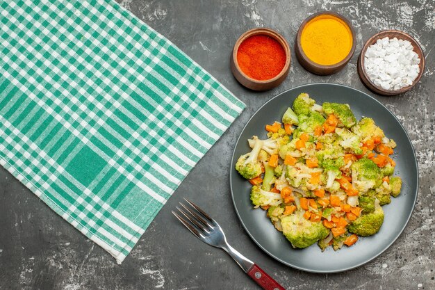
<svg viewBox="0 0 435 290">
<path fill-rule="evenodd" d="M 312 19 L 314 19 L 315 17 L 321 16 L 321 15 L 332 15 L 334 17 L 337 17 L 340 20 L 343 20 L 343 22 L 345 22 L 345 24 L 347 24 L 347 27 L 349 27 L 350 29 L 350 33 L 352 34 L 352 47 L 350 48 L 349 53 L 347 54 L 347 56 L 345 58 L 343 58 L 342 61 L 340 61 L 339 63 L 335 63 L 334 65 L 320 65 L 320 63 L 315 63 L 314 61 L 311 61 L 311 59 L 306 56 L 304 49 L 302 49 L 302 44 L 301 44 L 301 36 L 302 36 L 302 27 L 306 26 L 306 24 L 308 24 Z M 299 29 L 297 30 L 297 36 L 296 36 L 296 41 L 297 44 L 300 45 L 300 57 L 304 59 L 304 61 L 306 61 L 307 63 L 311 63 L 312 65 L 315 65 L 321 69 L 333 69 L 336 67 L 340 67 L 341 65 L 345 65 L 345 63 L 350 61 L 350 58 L 352 58 L 352 56 L 355 53 L 355 48 L 356 48 L 356 39 L 355 39 L 355 30 L 354 30 L 354 26 L 352 26 L 352 23 L 350 23 L 350 21 L 344 17 L 343 15 L 340 15 L 338 13 L 335 12 L 331 12 L 331 11 L 321 11 L 318 13 L 314 13 L 313 15 L 306 17 L 306 19 L 304 20 L 304 22 L 302 22 L 302 24 L 299 26 Z"/>
</svg>

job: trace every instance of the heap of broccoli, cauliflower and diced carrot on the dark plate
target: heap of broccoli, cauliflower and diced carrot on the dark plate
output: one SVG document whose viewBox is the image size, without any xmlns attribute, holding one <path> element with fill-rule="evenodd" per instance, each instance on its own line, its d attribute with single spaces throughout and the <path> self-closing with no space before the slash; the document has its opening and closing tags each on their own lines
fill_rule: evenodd
<svg viewBox="0 0 435 290">
<path fill-rule="evenodd" d="M 379 232 L 384 204 L 397 197 L 396 144 L 371 118 L 356 120 L 347 104 L 315 104 L 299 95 L 268 138 L 249 139 L 252 151 L 236 170 L 252 184 L 251 200 L 294 248 L 351 246 Z"/>
</svg>

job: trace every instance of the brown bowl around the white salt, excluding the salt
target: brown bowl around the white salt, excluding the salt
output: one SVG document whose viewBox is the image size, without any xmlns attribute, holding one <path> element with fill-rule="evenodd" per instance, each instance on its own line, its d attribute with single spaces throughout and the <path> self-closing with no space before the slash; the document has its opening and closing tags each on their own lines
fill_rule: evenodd
<svg viewBox="0 0 435 290">
<path fill-rule="evenodd" d="M 411 42 L 411 45 L 413 47 L 413 51 L 415 51 L 416 54 L 418 54 L 418 57 L 420 58 L 420 63 L 418 65 L 420 67 L 420 72 L 418 73 L 417 78 L 413 81 L 413 83 L 410 86 L 401 88 L 400 90 L 385 90 L 384 88 L 376 86 L 375 83 L 373 83 L 370 80 L 370 78 L 368 77 L 368 75 L 366 73 L 366 66 L 364 65 L 364 56 L 366 55 L 366 51 L 367 51 L 368 47 L 370 47 L 370 45 L 373 45 L 378 39 L 386 38 L 386 37 L 388 37 L 390 39 L 397 38 L 397 39 L 401 39 L 401 40 L 408 40 L 409 42 Z M 361 78 L 361 81 L 363 81 L 363 83 L 367 86 L 367 88 L 369 88 L 373 92 L 376 92 L 379 95 L 386 95 L 386 96 L 400 95 L 404 92 L 407 92 L 408 90 L 411 90 L 411 88 L 413 88 L 413 86 L 416 86 L 418 81 L 420 81 L 421 76 L 422 76 L 424 71 L 425 71 L 425 55 L 423 54 L 423 51 L 422 51 L 420 45 L 418 44 L 418 42 L 416 42 L 415 39 L 413 39 L 411 37 L 411 35 L 404 33 L 403 31 L 385 30 L 385 31 L 381 31 L 379 33 L 376 33 L 371 38 L 369 38 L 369 40 L 367 40 L 363 49 L 361 49 L 361 54 L 359 54 L 359 59 L 358 59 L 359 77 Z"/>
</svg>

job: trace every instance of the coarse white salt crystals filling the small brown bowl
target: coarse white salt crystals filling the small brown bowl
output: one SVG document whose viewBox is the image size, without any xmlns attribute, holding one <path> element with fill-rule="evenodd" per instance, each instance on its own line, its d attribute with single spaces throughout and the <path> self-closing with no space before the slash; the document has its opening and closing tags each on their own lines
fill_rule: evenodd
<svg viewBox="0 0 435 290">
<path fill-rule="evenodd" d="M 411 42 L 397 38 L 378 39 L 364 55 L 369 79 L 385 90 L 410 86 L 420 73 L 420 61 Z"/>
</svg>

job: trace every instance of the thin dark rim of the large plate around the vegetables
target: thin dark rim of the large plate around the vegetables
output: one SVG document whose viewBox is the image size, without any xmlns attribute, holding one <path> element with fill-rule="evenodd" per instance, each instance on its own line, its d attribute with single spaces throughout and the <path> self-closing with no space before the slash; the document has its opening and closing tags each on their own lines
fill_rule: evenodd
<svg viewBox="0 0 435 290">
<path fill-rule="evenodd" d="M 288 90 L 295 90 L 295 89 L 297 89 L 297 88 L 303 88 L 303 87 L 306 87 L 306 86 L 318 86 L 318 85 L 322 85 L 322 86 L 324 86 L 324 85 L 325 85 L 325 86 L 340 86 L 340 87 L 350 88 L 350 89 L 352 89 L 352 90 L 356 90 L 356 88 L 352 88 L 352 87 L 350 87 L 350 86 L 340 85 L 340 84 L 338 84 L 338 83 L 308 83 L 308 84 L 305 84 L 305 85 L 302 85 L 302 86 L 296 86 L 296 87 L 294 87 L 294 88 L 290 88 L 290 89 L 288 89 Z M 285 90 L 284 92 L 279 93 L 278 95 L 272 97 L 272 99 L 275 99 L 275 98 L 277 98 L 277 97 L 279 97 L 279 96 L 285 94 L 286 92 L 288 92 L 288 90 Z M 411 144 L 411 150 L 412 150 L 412 154 L 413 154 L 414 165 L 416 166 L 416 181 L 417 181 L 417 184 L 416 184 L 416 197 L 415 197 L 414 200 L 413 200 L 412 210 L 411 210 L 411 212 L 409 213 L 409 216 L 408 216 L 408 218 L 407 218 L 406 223 L 404 223 L 403 227 L 400 229 L 399 234 L 397 234 L 397 236 L 395 236 L 395 238 L 394 238 L 390 243 L 388 243 L 388 245 L 386 245 L 385 248 L 381 249 L 381 250 L 377 253 L 377 255 L 374 255 L 373 257 L 370 257 L 369 259 L 366 259 L 365 261 L 362 261 L 361 263 L 356 264 L 356 265 L 354 265 L 354 266 L 352 266 L 352 267 L 341 268 L 341 269 L 336 270 L 336 271 L 313 271 L 313 270 L 311 270 L 311 269 L 309 269 L 309 268 L 299 267 L 299 266 L 295 266 L 295 265 L 293 265 L 293 264 L 291 264 L 291 263 L 288 263 L 287 261 L 284 261 L 284 260 L 280 259 L 279 257 L 273 255 L 271 252 L 269 252 L 268 250 L 266 250 L 266 249 L 263 247 L 263 245 L 261 245 L 260 243 L 258 243 L 258 241 L 257 241 L 257 240 L 254 238 L 254 236 L 251 234 L 251 232 L 249 232 L 249 229 L 247 229 L 245 223 L 243 223 L 243 220 L 242 220 L 242 218 L 240 217 L 240 214 L 239 214 L 238 209 L 237 209 L 237 207 L 236 207 L 236 200 L 234 200 L 232 176 L 233 176 L 233 174 L 235 174 L 235 172 L 234 172 L 234 170 L 233 170 L 233 169 L 234 169 L 234 154 L 236 154 L 236 147 L 237 147 L 238 143 L 240 142 L 240 138 L 241 138 L 241 136 L 242 136 L 241 132 L 245 131 L 245 129 L 246 129 L 246 127 L 247 127 L 247 124 L 249 124 L 249 122 L 251 122 L 251 120 L 254 118 L 254 116 L 255 116 L 259 111 L 261 111 L 261 109 L 262 109 L 264 106 L 267 106 L 268 103 L 272 101 L 272 99 L 269 99 L 268 102 L 265 102 L 265 104 L 263 104 L 263 106 L 261 106 L 260 108 L 258 108 L 258 110 L 257 110 L 257 111 L 256 111 L 256 112 L 251 116 L 251 118 L 249 118 L 249 120 L 246 122 L 246 124 L 245 124 L 245 126 L 243 127 L 242 131 L 240 131 L 240 136 L 237 138 L 236 145 L 235 145 L 234 148 L 233 148 L 233 154 L 232 154 L 232 156 L 231 156 L 231 167 L 230 167 L 230 173 L 229 173 L 229 186 L 230 186 L 230 190 L 231 190 L 231 200 L 233 201 L 233 207 L 234 207 L 234 209 L 236 210 L 236 214 L 237 214 L 237 216 L 238 216 L 238 219 L 240 220 L 240 223 L 242 223 L 243 228 L 245 229 L 245 231 L 247 232 L 247 234 L 248 234 L 248 235 L 251 237 L 251 239 L 256 243 L 256 245 L 258 245 L 258 247 L 260 247 L 264 252 L 266 252 L 268 255 L 270 255 L 270 257 L 276 259 L 277 261 L 280 261 L 281 263 L 283 263 L 283 264 L 285 264 L 285 265 L 287 265 L 287 266 L 290 266 L 290 267 L 296 268 L 296 269 L 301 270 L 301 271 L 311 272 L 311 273 L 340 273 L 340 272 L 345 272 L 345 271 L 352 270 L 352 269 L 354 269 L 354 268 L 358 268 L 359 266 L 362 266 L 363 264 L 366 264 L 366 263 L 368 263 L 369 261 L 372 261 L 373 259 L 379 257 L 379 255 L 381 255 L 383 252 L 385 252 L 388 248 L 391 247 L 391 245 L 393 245 L 393 243 L 394 243 L 395 241 L 397 241 L 397 239 L 399 238 L 399 236 L 403 233 L 405 227 L 407 227 L 407 225 L 408 225 L 408 223 L 409 223 L 409 220 L 411 219 L 411 216 L 412 216 L 412 214 L 413 214 L 413 211 L 414 211 L 414 209 L 415 209 L 415 207 L 416 207 L 417 196 L 418 196 L 418 187 L 419 187 L 419 184 L 420 184 L 420 179 L 419 179 L 419 177 L 418 177 L 419 175 L 418 175 L 418 163 L 417 163 L 416 152 L 415 152 L 415 150 L 414 150 L 414 148 L 413 148 L 413 145 L 412 145 L 412 142 L 411 142 L 411 138 L 409 138 L 409 135 L 408 135 L 408 133 L 407 133 L 407 130 L 404 129 L 404 127 L 402 126 L 402 123 L 400 123 L 400 121 L 396 118 L 396 116 L 395 116 L 395 115 L 394 115 L 390 110 L 388 110 L 388 108 L 387 108 L 386 106 L 384 106 L 384 104 L 382 104 L 381 102 L 379 102 L 379 101 L 378 101 L 377 99 L 375 99 L 374 97 L 372 97 L 372 96 L 366 94 L 366 92 L 362 92 L 361 90 L 358 90 L 358 91 L 361 92 L 361 93 L 363 93 L 363 94 L 366 95 L 367 97 L 370 97 L 370 99 L 373 99 L 373 100 L 374 100 L 377 104 L 379 104 L 380 106 L 383 106 L 383 107 L 388 111 L 388 113 L 390 113 L 390 114 L 393 116 L 393 118 L 395 118 L 395 120 L 397 121 L 397 124 L 400 125 L 400 127 L 401 127 L 402 130 L 404 131 L 405 135 L 407 136 L 409 143 Z"/>
</svg>

